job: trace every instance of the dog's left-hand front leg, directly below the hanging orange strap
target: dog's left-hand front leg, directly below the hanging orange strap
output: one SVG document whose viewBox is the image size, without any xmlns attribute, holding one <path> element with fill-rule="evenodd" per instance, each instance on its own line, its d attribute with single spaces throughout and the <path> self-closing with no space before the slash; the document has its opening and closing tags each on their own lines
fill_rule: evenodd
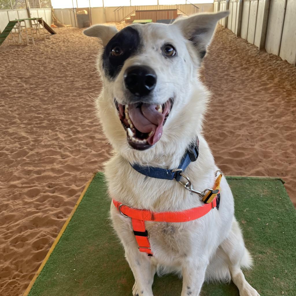
<svg viewBox="0 0 296 296">
<path fill-rule="evenodd" d="M 151 264 L 151 257 L 139 252 L 138 248 L 126 250 L 126 260 L 133 272 L 135 284 L 133 296 L 153 296 L 152 284 L 156 267 Z"/>
</svg>

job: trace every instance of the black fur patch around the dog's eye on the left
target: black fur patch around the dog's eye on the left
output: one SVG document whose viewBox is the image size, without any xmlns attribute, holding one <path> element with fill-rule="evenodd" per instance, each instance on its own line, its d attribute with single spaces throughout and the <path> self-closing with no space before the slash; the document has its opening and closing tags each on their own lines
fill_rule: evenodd
<svg viewBox="0 0 296 296">
<path fill-rule="evenodd" d="M 119 46 L 122 54 L 112 56 L 111 51 L 115 46 Z M 106 45 L 103 59 L 103 69 L 105 75 L 115 78 L 126 59 L 135 54 L 140 48 L 139 32 L 132 27 L 126 27 L 118 32 Z"/>
</svg>

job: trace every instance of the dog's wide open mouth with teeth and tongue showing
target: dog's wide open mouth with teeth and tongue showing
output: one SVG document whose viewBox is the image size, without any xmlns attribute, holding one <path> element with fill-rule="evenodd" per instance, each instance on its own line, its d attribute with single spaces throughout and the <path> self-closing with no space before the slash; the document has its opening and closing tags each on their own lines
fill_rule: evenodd
<svg viewBox="0 0 296 296">
<path fill-rule="evenodd" d="M 145 150 L 160 139 L 173 101 L 168 99 L 162 105 L 146 103 L 121 105 L 115 99 L 115 105 L 126 130 L 128 143 L 134 149 Z"/>
</svg>

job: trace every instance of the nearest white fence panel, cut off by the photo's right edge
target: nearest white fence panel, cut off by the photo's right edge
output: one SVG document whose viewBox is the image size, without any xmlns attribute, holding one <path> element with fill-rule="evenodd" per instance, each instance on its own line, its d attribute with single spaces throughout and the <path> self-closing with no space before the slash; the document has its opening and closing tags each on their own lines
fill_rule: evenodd
<svg viewBox="0 0 296 296">
<path fill-rule="evenodd" d="M 296 64 L 296 1 L 288 0 L 279 56 Z"/>
</svg>

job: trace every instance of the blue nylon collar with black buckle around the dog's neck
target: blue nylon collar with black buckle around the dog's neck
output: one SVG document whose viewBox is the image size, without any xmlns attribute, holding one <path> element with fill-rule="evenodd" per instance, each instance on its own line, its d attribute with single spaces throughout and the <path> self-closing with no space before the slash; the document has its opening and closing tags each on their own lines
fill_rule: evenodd
<svg viewBox="0 0 296 296">
<path fill-rule="evenodd" d="M 199 140 L 197 138 L 197 141 L 192 143 L 187 149 L 182 157 L 182 160 L 180 164 L 178 165 L 178 168 L 175 168 L 173 170 L 166 170 L 164 168 L 155 168 L 151 166 L 143 167 L 139 165 L 138 163 L 131 164 L 131 166 L 139 173 L 151 177 L 151 178 L 157 178 L 157 179 L 165 179 L 165 180 L 173 180 L 180 181 L 181 175 L 178 173 L 181 170 L 184 171 L 189 163 L 196 161 L 198 157 L 198 150 L 199 150 Z M 181 170 L 180 170 L 181 169 Z"/>
</svg>

